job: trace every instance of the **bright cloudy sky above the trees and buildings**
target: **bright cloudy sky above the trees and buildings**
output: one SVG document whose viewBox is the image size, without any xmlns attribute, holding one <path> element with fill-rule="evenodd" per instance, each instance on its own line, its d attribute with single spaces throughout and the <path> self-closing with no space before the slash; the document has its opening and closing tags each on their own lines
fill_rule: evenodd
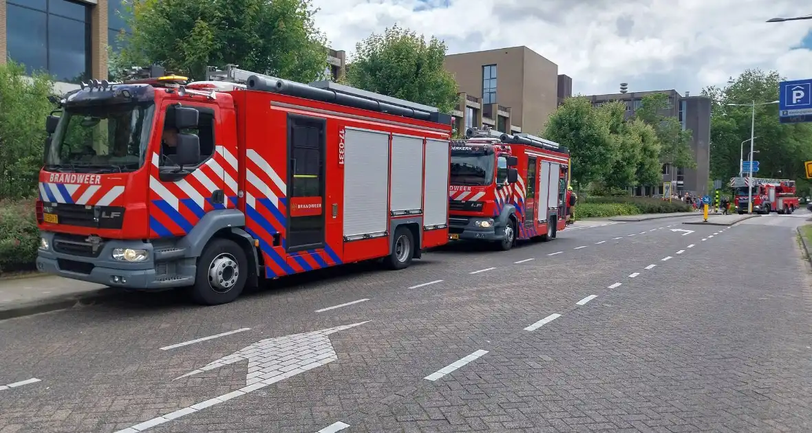
<svg viewBox="0 0 812 433">
<path fill-rule="evenodd" d="M 572 77 L 573 93 L 676 88 L 698 94 L 746 68 L 812 78 L 810 0 L 313 0 L 333 49 L 349 54 L 399 24 L 449 54 L 527 45 Z M 805 6 L 806 5 L 806 6 Z"/>
</svg>

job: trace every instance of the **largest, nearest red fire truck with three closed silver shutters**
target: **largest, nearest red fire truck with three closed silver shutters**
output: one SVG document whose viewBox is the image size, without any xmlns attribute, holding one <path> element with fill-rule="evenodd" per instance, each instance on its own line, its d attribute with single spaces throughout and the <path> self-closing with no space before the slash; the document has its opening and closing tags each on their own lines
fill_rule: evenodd
<svg viewBox="0 0 812 433">
<path fill-rule="evenodd" d="M 83 84 L 47 119 L 41 271 L 218 304 L 448 242 L 449 115 L 234 68 L 188 85 L 146 71 Z"/>
</svg>

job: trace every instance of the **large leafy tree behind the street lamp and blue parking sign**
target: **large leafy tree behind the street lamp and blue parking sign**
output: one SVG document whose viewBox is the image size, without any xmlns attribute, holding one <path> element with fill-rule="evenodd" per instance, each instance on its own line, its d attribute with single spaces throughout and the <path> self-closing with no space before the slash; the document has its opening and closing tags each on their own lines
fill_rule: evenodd
<svg viewBox="0 0 812 433">
<path fill-rule="evenodd" d="M 727 180 L 739 174 L 740 158 L 748 159 L 753 111 L 750 106 L 778 99 L 778 71 L 746 70 L 728 84 L 702 90 L 711 98 L 711 176 Z M 789 178 L 809 186 L 804 161 L 812 159 L 812 124 L 781 124 L 778 105 L 755 106 L 754 160 L 759 177 Z M 743 152 L 742 152 L 743 148 Z"/>
</svg>

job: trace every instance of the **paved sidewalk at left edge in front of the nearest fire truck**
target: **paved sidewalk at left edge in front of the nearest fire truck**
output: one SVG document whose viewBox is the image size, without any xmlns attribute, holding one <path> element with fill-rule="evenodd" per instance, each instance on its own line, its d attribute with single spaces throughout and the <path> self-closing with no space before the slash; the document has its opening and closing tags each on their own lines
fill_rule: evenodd
<svg viewBox="0 0 812 433">
<path fill-rule="evenodd" d="M 0 320 L 73 307 L 111 293 L 104 285 L 63 277 L 0 279 Z"/>
</svg>

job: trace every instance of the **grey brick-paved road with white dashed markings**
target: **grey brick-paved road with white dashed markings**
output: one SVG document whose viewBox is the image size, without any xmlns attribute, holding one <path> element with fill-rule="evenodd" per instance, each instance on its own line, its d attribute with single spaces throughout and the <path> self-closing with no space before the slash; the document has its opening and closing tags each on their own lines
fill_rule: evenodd
<svg viewBox="0 0 812 433">
<path fill-rule="evenodd" d="M 0 432 L 117 431 L 177 410 L 147 431 L 812 431 L 810 286 L 791 229 L 804 220 L 775 218 L 598 225 L 507 253 L 449 248 L 400 272 L 298 277 L 220 307 L 123 296 L 7 320 L 0 385 L 41 381 L 0 388 Z M 178 376 L 349 324 L 318 343 L 335 361 L 184 411 L 256 370 Z M 242 353 L 314 365 L 276 344 Z"/>
</svg>

